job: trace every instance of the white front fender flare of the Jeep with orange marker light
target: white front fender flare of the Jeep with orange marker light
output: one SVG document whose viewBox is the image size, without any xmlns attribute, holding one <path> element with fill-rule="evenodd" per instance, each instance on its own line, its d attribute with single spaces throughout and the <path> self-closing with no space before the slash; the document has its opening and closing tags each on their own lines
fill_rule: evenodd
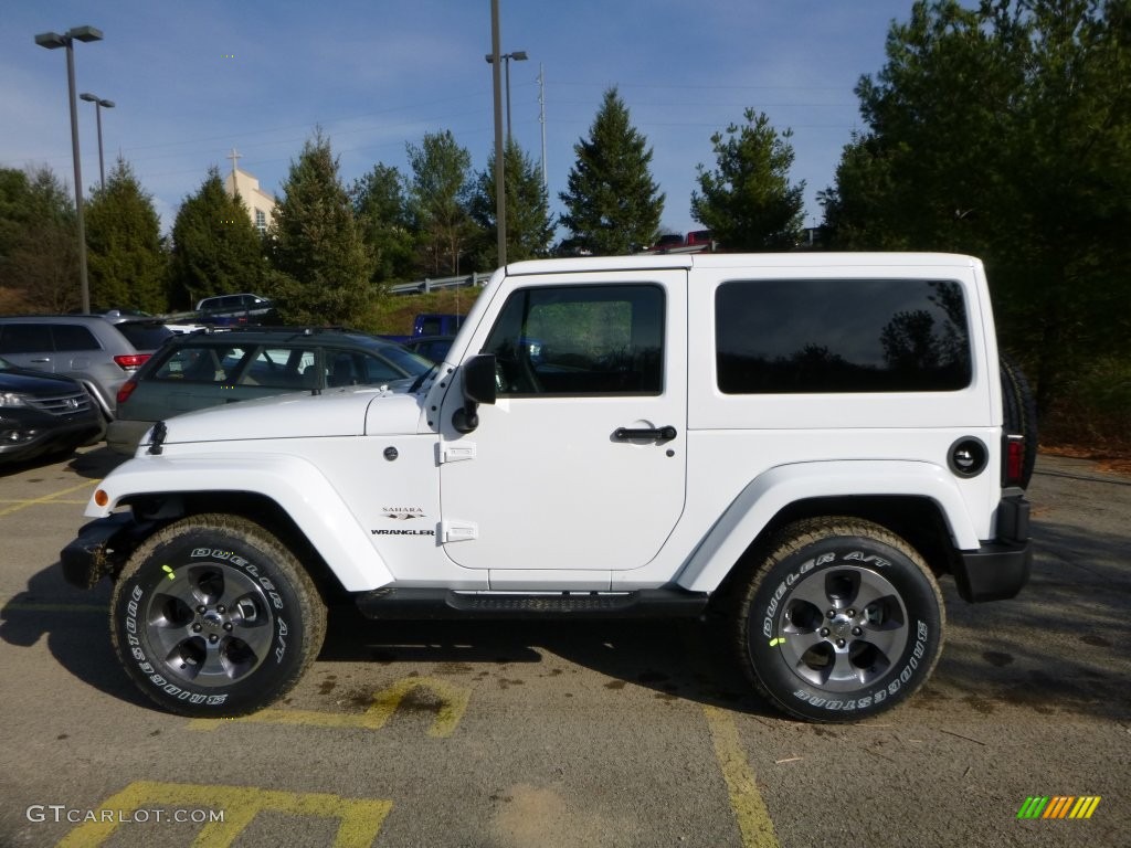
<svg viewBox="0 0 1131 848">
<path fill-rule="evenodd" d="M 262 494 L 286 510 L 346 591 L 378 589 L 392 582 L 385 561 L 329 481 L 314 465 L 292 455 L 138 457 L 102 482 L 85 514 L 109 516 L 140 495 L 190 492 Z"/>
</svg>

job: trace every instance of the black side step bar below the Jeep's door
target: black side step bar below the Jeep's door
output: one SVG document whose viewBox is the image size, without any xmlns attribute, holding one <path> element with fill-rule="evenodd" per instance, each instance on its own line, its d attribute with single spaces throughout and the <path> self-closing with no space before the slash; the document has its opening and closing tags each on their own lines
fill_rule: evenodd
<svg viewBox="0 0 1131 848">
<path fill-rule="evenodd" d="M 693 618 L 707 607 L 706 592 L 683 589 L 637 591 L 464 591 L 386 588 L 356 598 L 366 618 Z"/>
</svg>

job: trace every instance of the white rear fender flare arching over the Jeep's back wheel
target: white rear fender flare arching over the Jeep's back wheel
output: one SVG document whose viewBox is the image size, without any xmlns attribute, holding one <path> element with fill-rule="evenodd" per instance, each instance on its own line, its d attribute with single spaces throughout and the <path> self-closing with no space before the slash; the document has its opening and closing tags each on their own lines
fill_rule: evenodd
<svg viewBox="0 0 1131 848">
<path fill-rule="evenodd" d="M 689 591 L 714 591 L 750 543 L 791 503 L 870 495 L 927 497 L 939 505 L 956 547 L 981 545 L 955 477 L 941 466 L 900 460 L 798 462 L 751 481 L 711 527 L 676 583 Z"/>
</svg>

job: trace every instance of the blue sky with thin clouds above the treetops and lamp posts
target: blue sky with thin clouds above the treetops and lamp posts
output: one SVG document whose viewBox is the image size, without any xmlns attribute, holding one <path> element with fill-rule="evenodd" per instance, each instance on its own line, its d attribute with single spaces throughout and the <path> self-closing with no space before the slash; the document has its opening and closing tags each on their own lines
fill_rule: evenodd
<svg viewBox="0 0 1131 848">
<path fill-rule="evenodd" d="M 862 130 L 853 93 L 884 62 L 892 21 L 912 0 L 499 0 L 515 139 L 544 159 L 560 211 L 573 150 L 615 86 L 653 150 L 661 227 L 685 233 L 696 166 L 710 137 L 752 107 L 792 130 L 792 184 L 805 225 Z M 105 167 L 119 156 L 165 232 L 209 166 L 239 166 L 282 196 L 320 127 L 347 187 L 381 163 L 406 175 L 406 145 L 450 130 L 482 171 L 493 149 L 490 0 L 0 0 L 0 166 L 50 166 L 74 185 L 66 51 L 38 33 L 94 26 L 75 44 L 78 93 L 102 110 Z M 539 72 L 544 85 L 541 120 Z M 506 93 L 503 95 L 506 99 Z M 95 106 L 78 102 L 84 192 L 98 182 Z M 545 141 L 543 144 L 543 132 Z"/>
</svg>

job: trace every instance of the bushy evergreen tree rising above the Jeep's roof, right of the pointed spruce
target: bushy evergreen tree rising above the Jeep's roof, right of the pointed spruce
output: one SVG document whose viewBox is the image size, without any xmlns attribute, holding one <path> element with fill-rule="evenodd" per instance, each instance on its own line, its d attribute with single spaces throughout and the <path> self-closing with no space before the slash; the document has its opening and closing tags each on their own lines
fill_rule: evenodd
<svg viewBox="0 0 1131 848">
<path fill-rule="evenodd" d="M 711 136 L 716 167 L 697 167 L 691 215 L 733 251 L 789 250 L 801 240 L 805 183 L 789 184 L 792 132 L 778 133 L 765 113 L 748 109 L 743 124 Z"/>
</svg>

